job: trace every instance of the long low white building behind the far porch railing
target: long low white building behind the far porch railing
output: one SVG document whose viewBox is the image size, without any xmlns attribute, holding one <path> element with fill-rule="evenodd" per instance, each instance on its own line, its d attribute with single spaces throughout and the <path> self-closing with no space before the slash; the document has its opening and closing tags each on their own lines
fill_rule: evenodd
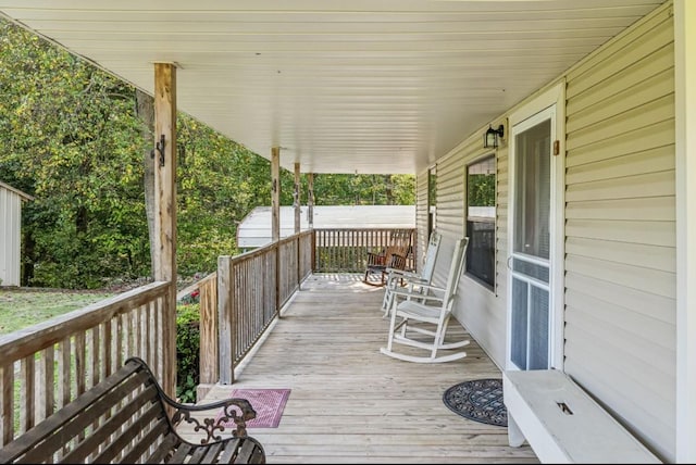
<svg viewBox="0 0 696 465">
<path fill-rule="evenodd" d="M 309 229 L 308 206 L 300 208 L 300 230 Z M 270 206 L 257 206 L 237 227 L 237 247 L 256 249 L 271 242 Z M 415 205 L 316 205 L 314 229 L 415 228 Z M 281 206 L 281 238 L 295 232 L 295 208 Z"/>
</svg>

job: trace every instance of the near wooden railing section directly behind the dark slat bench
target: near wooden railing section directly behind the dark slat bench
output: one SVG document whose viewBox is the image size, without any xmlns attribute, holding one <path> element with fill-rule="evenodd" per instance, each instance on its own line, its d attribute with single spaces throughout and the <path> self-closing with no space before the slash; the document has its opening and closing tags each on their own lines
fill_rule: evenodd
<svg viewBox="0 0 696 465">
<path fill-rule="evenodd" d="M 0 444 L 140 356 L 173 394 L 174 302 L 152 282 L 0 337 Z M 171 385 L 167 387 L 167 385 Z"/>
</svg>

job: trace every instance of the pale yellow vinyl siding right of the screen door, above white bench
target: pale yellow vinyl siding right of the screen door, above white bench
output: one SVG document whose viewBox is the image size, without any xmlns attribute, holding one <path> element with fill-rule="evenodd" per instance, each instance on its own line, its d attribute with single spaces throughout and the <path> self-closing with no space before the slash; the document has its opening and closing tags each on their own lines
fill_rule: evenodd
<svg viewBox="0 0 696 465">
<path fill-rule="evenodd" d="M 675 458 L 671 8 L 567 75 L 564 370 Z"/>
</svg>

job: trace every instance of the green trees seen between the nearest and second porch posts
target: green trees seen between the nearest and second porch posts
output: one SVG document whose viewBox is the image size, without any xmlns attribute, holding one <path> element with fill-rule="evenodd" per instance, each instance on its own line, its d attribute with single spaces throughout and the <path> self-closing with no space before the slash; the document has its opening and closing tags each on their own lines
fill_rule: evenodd
<svg viewBox="0 0 696 465">
<path fill-rule="evenodd" d="M 177 263 L 190 276 L 236 253 L 237 223 L 271 198 L 270 163 L 190 117 L 177 126 Z"/>
</svg>

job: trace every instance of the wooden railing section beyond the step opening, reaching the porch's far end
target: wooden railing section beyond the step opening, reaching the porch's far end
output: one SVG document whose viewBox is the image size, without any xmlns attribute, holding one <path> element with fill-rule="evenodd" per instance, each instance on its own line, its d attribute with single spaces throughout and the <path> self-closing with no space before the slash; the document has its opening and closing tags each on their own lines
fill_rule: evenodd
<svg viewBox="0 0 696 465">
<path fill-rule="evenodd" d="M 312 271 L 363 272 L 368 251 L 386 247 L 393 231 L 314 229 L 220 256 L 217 272 L 187 289 L 200 296 L 198 397 L 216 382 L 234 382 L 235 366 Z"/>
</svg>

